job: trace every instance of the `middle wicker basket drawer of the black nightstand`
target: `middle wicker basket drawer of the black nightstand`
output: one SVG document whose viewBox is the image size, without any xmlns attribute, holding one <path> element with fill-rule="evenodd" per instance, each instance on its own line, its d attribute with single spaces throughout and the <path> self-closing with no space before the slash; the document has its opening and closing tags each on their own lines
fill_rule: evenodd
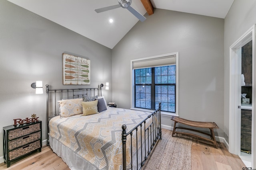
<svg viewBox="0 0 256 170">
<path fill-rule="evenodd" d="M 26 145 L 27 143 L 30 143 L 32 141 L 36 141 L 38 139 L 41 138 L 41 132 L 36 132 L 36 133 L 32 133 L 28 136 L 25 136 L 25 137 L 22 137 L 22 138 L 18 138 L 18 139 L 15 139 L 13 141 L 10 141 L 9 142 L 9 145 L 8 145 L 8 149 L 9 150 L 12 150 L 14 148 L 17 148 L 17 147 L 20 147 L 22 145 Z"/>
</svg>

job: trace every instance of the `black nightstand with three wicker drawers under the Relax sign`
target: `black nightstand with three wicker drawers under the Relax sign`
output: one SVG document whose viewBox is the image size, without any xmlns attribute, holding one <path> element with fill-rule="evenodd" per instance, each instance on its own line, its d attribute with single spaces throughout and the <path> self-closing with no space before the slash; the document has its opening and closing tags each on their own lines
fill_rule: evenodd
<svg viewBox="0 0 256 170">
<path fill-rule="evenodd" d="M 12 161 L 42 149 L 42 121 L 3 127 L 4 163 L 7 168 Z"/>
</svg>

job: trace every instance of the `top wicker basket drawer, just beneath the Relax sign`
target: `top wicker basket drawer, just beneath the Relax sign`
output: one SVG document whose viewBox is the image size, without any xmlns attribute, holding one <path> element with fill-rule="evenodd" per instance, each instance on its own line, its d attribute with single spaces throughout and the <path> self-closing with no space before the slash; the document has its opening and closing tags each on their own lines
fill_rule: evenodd
<svg viewBox="0 0 256 170">
<path fill-rule="evenodd" d="M 11 140 L 11 139 L 21 137 L 23 135 L 27 135 L 29 133 L 39 131 L 39 130 L 40 130 L 40 123 L 36 123 L 23 128 L 14 129 L 12 131 L 9 131 L 8 139 Z"/>
</svg>

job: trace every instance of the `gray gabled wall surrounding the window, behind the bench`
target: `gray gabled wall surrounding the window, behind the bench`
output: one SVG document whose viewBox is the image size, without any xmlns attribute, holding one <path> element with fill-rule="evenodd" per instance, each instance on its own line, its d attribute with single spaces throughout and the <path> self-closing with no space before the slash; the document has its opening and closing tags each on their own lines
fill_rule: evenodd
<svg viewBox="0 0 256 170">
<path fill-rule="evenodd" d="M 224 136 L 224 19 L 155 9 L 112 49 L 112 97 L 130 108 L 130 60 L 179 52 L 179 115 Z M 170 117 L 162 123 L 172 126 Z"/>
</svg>

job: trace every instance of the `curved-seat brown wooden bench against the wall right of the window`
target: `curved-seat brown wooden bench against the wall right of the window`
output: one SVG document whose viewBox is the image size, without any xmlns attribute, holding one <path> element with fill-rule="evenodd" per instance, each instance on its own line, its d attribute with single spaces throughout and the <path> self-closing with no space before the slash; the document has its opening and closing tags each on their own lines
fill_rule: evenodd
<svg viewBox="0 0 256 170">
<path fill-rule="evenodd" d="M 187 119 L 182 119 L 180 117 L 177 117 L 177 116 L 172 116 L 171 119 L 174 121 L 174 127 L 173 127 L 173 131 L 172 131 L 172 137 L 175 133 L 181 133 L 181 134 L 185 134 L 185 135 L 191 135 L 191 136 L 194 136 L 194 137 L 198 137 L 200 139 L 204 139 L 206 141 L 210 141 L 213 143 L 213 145 L 216 147 L 216 149 L 218 149 L 217 147 L 217 142 L 216 142 L 216 139 L 215 139 L 215 136 L 214 136 L 214 131 L 213 129 L 214 128 L 219 128 L 216 123 L 214 122 L 203 122 L 203 121 L 191 121 L 191 120 L 187 120 Z M 191 128 L 186 128 L 186 127 L 176 127 L 176 123 L 182 123 L 184 125 L 189 125 L 189 126 L 193 126 L 193 127 L 200 127 L 200 128 L 206 128 L 206 129 L 210 129 L 210 133 L 211 134 L 208 134 L 208 133 L 204 133 L 202 131 L 199 131 L 199 130 L 196 130 L 196 129 L 191 129 Z M 206 137 L 202 137 L 200 135 L 196 135 L 196 134 L 193 134 L 193 133 L 187 133 L 187 132 L 180 132 L 180 131 L 176 131 L 176 129 L 185 129 L 185 130 L 189 130 L 189 131 L 194 131 L 194 132 L 197 132 L 197 133 L 201 133 L 201 134 L 204 134 L 204 135 L 207 135 L 209 136 L 211 139 L 208 139 Z"/>
</svg>

